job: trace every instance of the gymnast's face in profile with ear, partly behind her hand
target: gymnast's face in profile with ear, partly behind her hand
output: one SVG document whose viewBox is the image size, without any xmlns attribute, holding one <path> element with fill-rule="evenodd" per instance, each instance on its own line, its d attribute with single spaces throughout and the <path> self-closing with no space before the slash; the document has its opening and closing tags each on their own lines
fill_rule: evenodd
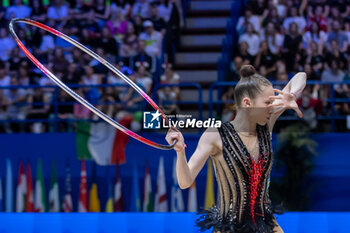
<svg viewBox="0 0 350 233">
<path fill-rule="evenodd" d="M 274 95 L 274 91 L 271 85 L 261 86 L 260 88 L 261 93 L 257 93 L 254 99 L 243 98 L 243 106 L 247 107 L 249 121 L 265 125 L 271 117 L 272 108 L 268 105 L 272 103 L 270 96 Z"/>
</svg>

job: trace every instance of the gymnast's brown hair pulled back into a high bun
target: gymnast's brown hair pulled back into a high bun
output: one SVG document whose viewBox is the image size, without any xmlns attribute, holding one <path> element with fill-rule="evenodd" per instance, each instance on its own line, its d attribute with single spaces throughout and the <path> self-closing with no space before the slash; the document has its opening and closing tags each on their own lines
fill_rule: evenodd
<svg viewBox="0 0 350 233">
<path fill-rule="evenodd" d="M 241 105 L 244 97 L 255 99 L 258 93 L 262 92 L 262 86 L 272 86 L 271 82 L 257 74 L 252 65 L 244 65 L 240 70 L 241 79 L 235 87 L 235 102 L 237 106 Z"/>
</svg>

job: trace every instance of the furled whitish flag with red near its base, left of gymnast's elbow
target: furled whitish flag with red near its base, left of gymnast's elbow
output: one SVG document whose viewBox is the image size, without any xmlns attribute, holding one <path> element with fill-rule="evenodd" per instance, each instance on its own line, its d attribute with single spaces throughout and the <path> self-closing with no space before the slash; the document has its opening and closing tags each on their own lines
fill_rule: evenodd
<svg viewBox="0 0 350 233">
<path fill-rule="evenodd" d="M 155 204 L 154 205 L 155 212 L 168 211 L 163 157 L 160 157 L 160 160 L 159 160 L 158 177 L 157 177 L 157 193 L 156 193 L 154 204 Z"/>
</svg>

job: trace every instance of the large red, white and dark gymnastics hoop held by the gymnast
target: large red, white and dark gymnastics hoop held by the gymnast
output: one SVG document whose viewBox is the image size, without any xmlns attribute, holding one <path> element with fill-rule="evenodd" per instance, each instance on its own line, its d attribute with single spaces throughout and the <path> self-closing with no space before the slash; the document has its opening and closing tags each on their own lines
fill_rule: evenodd
<svg viewBox="0 0 350 233">
<path fill-rule="evenodd" d="M 25 18 L 14 18 L 11 20 L 9 24 L 10 33 L 15 39 L 17 45 L 20 47 L 20 49 L 25 53 L 25 55 L 46 75 L 48 76 L 55 84 L 57 84 L 60 88 L 62 88 L 65 92 L 67 92 L 69 95 L 71 95 L 74 99 L 76 99 L 78 102 L 80 102 L 82 105 L 87 107 L 90 111 L 95 113 L 97 116 L 105 120 L 110 125 L 114 126 L 115 128 L 119 129 L 123 133 L 129 135 L 130 137 L 135 138 L 136 140 L 143 142 L 149 146 L 152 146 L 157 149 L 162 150 L 170 150 L 173 149 L 177 140 L 175 139 L 172 145 L 162 145 L 158 144 L 156 142 L 150 141 L 133 131 L 129 130 L 128 128 L 124 127 L 123 125 L 119 124 L 115 120 L 113 120 L 111 117 L 107 116 L 102 111 L 98 110 L 96 107 L 94 107 L 92 104 L 90 104 L 88 101 L 86 101 L 84 98 L 79 96 L 77 93 L 72 91 L 66 84 L 64 84 L 61 80 L 59 80 L 54 74 L 52 74 L 43 64 L 41 64 L 31 52 L 28 51 L 28 49 L 23 45 L 21 40 L 18 38 L 17 34 L 15 33 L 15 30 L 13 29 L 13 25 L 15 23 L 25 23 L 30 24 L 35 27 L 39 27 L 47 32 L 50 32 L 51 34 L 54 34 L 55 36 L 58 36 L 65 41 L 73 44 L 75 47 L 78 47 L 79 49 L 83 50 L 99 62 L 101 62 L 104 66 L 106 66 L 109 70 L 113 71 L 116 75 L 118 75 L 120 78 L 124 79 L 125 82 L 127 82 L 134 90 L 136 90 L 144 99 L 147 100 L 149 104 L 156 110 L 159 111 L 161 114 L 160 116 L 166 121 L 166 123 L 169 122 L 168 118 L 165 116 L 163 111 L 158 107 L 158 105 L 140 88 L 138 87 L 133 81 L 131 81 L 128 77 L 126 77 L 122 72 L 120 72 L 117 68 L 115 68 L 113 65 L 111 65 L 109 62 L 107 62 L 105 59 L 97 55 L 95 52 L 91 51 L 84 45 L 80 44 L 78 41 L 68 37 L 64 33 L 57 31 L 47 25 L 44 25 L 42 23 L 39 23 L 37 21 L 31 20 L 31 19 L 25 19 Z M 172 127 L 173 128 L 173 127 Z"/>
</svg>

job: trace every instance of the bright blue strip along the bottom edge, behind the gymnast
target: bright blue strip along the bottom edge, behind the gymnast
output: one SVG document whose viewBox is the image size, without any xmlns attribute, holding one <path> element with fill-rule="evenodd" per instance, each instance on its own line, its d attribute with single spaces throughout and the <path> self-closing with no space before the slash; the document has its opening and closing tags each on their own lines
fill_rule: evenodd
<svg viewBox="0 0 350 233">
<path fill-rule="evenodd" d="M 2 213 L 0 233 L 192 233 L 199 232 L 196 218 L 194 213 Z M 350 212 L 290 212 L 277 221 L 285 233 L 350 232 Z"/>
</svg>

